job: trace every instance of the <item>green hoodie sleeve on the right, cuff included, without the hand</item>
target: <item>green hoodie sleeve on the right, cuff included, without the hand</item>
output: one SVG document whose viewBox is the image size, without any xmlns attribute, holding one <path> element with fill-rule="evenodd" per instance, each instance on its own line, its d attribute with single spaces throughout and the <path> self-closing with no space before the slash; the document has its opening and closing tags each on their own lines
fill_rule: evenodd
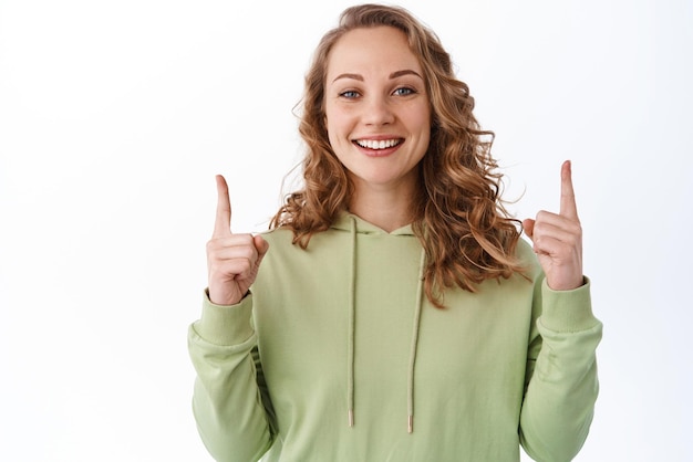
<svg viewBox="0 0 693 462">
<path fill-rule="evenodd" d="M 536 461 L 570 461 L 582 448 L 594 412 L 602 325 L 592 314 L 587 279 L 583 286 L 565 292 L 540 281 L 535 309 L 520 441 Z"/>
</svg>

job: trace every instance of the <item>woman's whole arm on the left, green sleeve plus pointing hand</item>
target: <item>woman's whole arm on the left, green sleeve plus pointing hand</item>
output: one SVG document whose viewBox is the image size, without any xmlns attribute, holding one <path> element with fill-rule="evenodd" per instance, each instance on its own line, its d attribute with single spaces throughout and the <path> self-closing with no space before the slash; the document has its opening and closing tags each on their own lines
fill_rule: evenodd
<svg viewBox="0 0 693 462">
<path fill-rule="evenodd" d="M 216 180 L 217 216 L 207 242 L 209 290 L 203 315 L 188 332 L 197 371 L 193 411 L 217 461 L 247 462 L 260 459 L 272 442 L 249 293 L 269 244 L 259 235 L 231 232 L 228 186 L 221 176 Z"/>
</svg>

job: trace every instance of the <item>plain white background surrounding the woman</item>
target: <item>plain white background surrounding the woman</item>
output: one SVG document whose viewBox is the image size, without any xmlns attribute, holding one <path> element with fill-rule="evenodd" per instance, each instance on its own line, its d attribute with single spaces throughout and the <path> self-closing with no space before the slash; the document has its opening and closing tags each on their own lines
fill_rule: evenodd
<svg viewBox="0 0 693 462">
<path fill-rule="evenodd" d="M 208 460 L 186 329 L 214 175 L 234 229 L 265 229 L 303 73 L 348 4 L 0 0 L 1 460 Z M 402 4 L 496 132 L 514 213 L 556 210 L 573 160 L 604 323 L 577 460 L 693 460 L 693 3 Z"/>
</svg>

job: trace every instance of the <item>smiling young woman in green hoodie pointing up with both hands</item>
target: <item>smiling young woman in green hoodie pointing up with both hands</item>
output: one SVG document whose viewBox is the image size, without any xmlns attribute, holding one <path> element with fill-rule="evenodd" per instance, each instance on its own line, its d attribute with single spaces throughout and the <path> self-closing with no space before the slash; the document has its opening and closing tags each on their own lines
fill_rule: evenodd
<svg viewBox="0 0 693 462">
<path fill-rule="evenodd" d="M 360 6 L 306 80 L 304 187 L 263 235 L 228 189 L 189 330 L 194 413 L 219 461 L 568 461 L 597 398 L 601 324 L 570 164 L 520 239 L 492 133 L 433 32 Z M 415 420 L 414 420 L 415 419 Z"/>
</svg>

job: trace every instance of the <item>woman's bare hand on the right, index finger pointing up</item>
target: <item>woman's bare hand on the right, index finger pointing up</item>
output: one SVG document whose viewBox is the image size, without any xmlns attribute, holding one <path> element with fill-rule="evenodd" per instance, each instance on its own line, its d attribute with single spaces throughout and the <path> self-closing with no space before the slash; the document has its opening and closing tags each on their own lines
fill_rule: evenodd
<svg viewBox="0 0 693 462">
<path fill-rule="evenodd" d="M 535 220 L 523 221 L 525 233 L 555 291 L 570 291 L 585 283 L 582 275 L 582 228 L 572 190 L 570 160 L 560 170 L 560 212 L 541 210 Z"/>
</svg>

